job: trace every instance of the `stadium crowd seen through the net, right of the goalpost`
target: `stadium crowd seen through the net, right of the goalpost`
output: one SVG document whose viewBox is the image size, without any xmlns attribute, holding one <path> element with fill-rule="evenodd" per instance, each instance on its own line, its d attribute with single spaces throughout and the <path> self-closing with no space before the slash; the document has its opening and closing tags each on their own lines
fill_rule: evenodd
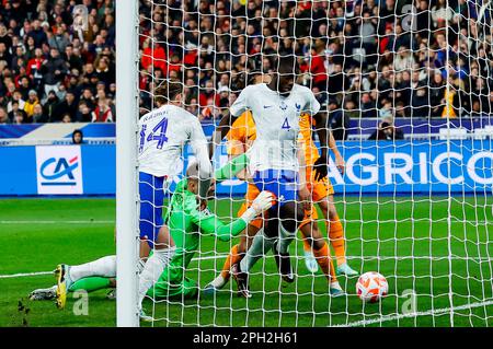
<svg viewBox="0 0 493 349">
<path fill-rule="evenodd" d="M 488 114 L 492 26 L 489 11 L 488 25 L 477 23 L 480 4 L 205 0 L 196 8 L 193 1 L 142 1 L 140 88 L 152 91 L 152 77 L 182 80 L 188 109 L 214 118 L 243 88 L 245 72 L 270 72 L 278 55 L 295 53 L 300 82 L 313 89 L 335 124 Z M 142 97 L 148 108 L 150 96 Z"/>
</svg>

